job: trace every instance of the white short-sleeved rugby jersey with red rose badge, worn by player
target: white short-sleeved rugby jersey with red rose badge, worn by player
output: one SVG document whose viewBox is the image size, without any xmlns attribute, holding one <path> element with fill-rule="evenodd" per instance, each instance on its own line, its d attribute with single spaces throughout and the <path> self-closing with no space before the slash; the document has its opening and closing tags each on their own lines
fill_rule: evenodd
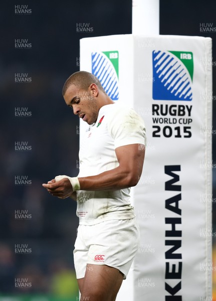
<svg viewBox="0 0 216 301">
<path fill-rule="evenodd" d="M 115 148 L 145 144 L 145 125 L 132 108 L 119 104 L 101 107 L 96 123 L 81 141 L 79 177 L 95 176 L 119 166 Z M 125 154 L 127 156 L 127 154 Z M 77 216 L 82 225 L 105 220 L 131 219 L 130 188 L 110 191 L 77 191 Z"/>
</svg>

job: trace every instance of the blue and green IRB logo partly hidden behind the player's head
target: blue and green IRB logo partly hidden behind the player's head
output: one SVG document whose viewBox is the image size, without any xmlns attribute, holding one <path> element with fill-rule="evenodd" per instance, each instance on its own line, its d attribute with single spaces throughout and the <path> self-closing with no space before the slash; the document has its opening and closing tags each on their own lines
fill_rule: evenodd
<svg viewBox="0 0 216 301">
<path fill-rule="evenodd" d="M 112 100 L 119 99 L 118 51 L 92 53 L 92 73 Z"/>
</svg>

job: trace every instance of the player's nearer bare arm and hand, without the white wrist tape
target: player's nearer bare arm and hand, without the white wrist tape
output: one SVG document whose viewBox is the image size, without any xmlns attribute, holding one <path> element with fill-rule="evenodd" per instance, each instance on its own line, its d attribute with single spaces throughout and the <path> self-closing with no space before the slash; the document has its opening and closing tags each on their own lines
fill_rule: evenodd
<svg viewBox="0 0 216 301">
<path fill-rule="evenodd" d="M 142 173 L 145 148 L 139 144 L 129 144 L 115 149 L 119 166 L 96 176 L 78 178 L 80 190 L 119 190 L 135 186 Z M 64 178 L 58 182 L 49 181 L 43 184 L 53 196 L 65 199 L 71 197 L 76 200 L 76 192 L 69 179 Z"/>
</svg>

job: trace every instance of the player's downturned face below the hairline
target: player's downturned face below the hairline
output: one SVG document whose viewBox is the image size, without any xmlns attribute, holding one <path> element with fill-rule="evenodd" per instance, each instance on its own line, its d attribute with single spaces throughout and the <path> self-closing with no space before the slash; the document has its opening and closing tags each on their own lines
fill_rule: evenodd
<svg viewBox="0 0 216 301">
<path fill-rule="evenodd" d="M 64 99 L 66 104 L 73 108 L 75 115 L 78 115 L 88 124 L 96 122 L 98 116 L 97 101 L 90 88 L 86 91 L 71 85 L 67 89 Z"/>
</svg>

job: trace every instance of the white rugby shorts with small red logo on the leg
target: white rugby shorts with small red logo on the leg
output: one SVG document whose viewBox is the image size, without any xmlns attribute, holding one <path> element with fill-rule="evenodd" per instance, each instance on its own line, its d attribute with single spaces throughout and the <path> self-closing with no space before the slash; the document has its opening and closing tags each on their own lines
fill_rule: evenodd
<svg viewBox="0 0 216 301">
<path fill-rule="evenodd" d="M 126 279 L 138 244 L 136 218 L 109 220 L 92 226 L 79 225 L 74 249 L 77 279 L 85 276 L 87 263 L 115 267 Z"/>
</svg>

